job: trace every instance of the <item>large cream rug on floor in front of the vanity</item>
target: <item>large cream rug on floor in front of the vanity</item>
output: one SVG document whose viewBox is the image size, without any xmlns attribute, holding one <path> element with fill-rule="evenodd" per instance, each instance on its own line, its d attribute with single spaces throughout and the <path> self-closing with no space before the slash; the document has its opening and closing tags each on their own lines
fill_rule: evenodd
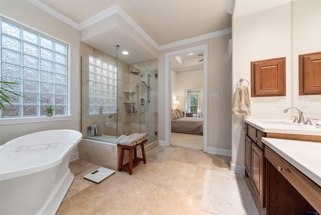
<svg viewBox="0 0 321 215">
<path fill-rule="evenodd" d="M 218 214 L 260 214 L 243 175 L 206 169 L 201 209 Z"/>
</svg>

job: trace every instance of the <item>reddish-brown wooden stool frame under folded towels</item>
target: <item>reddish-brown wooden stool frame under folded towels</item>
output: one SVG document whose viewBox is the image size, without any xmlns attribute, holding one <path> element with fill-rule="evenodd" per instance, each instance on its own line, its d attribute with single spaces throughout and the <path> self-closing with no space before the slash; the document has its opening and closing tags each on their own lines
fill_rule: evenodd
<svg viewBox="0 0 321 215">
<path fill-rule="evenodd" d="M 132 168 L 135 167 L 140 161 L 143 161 L 144 163 L 146 163 L 145 148 L 144 148 L 144 143 L 146 142 L 147 140 L 143 140 L 141 143 L 138 143 L 134 146 L 125 146 L 125 145 L 117 144 L 117 146 L 121 147 L 120 159 L 118 164 L 119 172 L 121 172 L 121 170 L 124 169 L 124 170 L 128 170 L 129 175 L 131 175 Z M 137 146 L 141 146 L 142 158 L 137 157 Z M 124 160 L 125 150 L 129 151 L 129 162 L 122 165 L 122 162 Z M 134 154 L 134 157 L 133 157 L 133 154 Z"/>
</svg>

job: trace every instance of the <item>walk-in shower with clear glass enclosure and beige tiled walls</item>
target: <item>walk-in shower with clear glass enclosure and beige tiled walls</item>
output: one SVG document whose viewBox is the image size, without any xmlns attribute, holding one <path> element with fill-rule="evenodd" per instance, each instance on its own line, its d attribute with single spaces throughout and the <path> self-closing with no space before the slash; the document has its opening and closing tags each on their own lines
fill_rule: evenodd
<svg viewBox="0 0 321 215">
<path fill-rule="evenodd" d="M 110 47 L 81 56 L 81 133 L 113 144 L 120 135 L 148 133 L 156 140 L 156 69 Z"/>
</svg>

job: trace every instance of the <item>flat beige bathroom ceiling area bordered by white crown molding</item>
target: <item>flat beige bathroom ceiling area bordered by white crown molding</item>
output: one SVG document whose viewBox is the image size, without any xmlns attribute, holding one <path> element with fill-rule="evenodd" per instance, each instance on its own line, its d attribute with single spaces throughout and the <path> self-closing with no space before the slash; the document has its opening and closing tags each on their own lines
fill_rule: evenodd
<svg viewBox="0 0 321 215">
<path fill-rule="evenodd" d="M 35 2 L 30 0 L 29 2 Z M 41 0 L 81 24 L 119 6 L 158 46 L 232 27 L 228 0 Z"/>
</svg>

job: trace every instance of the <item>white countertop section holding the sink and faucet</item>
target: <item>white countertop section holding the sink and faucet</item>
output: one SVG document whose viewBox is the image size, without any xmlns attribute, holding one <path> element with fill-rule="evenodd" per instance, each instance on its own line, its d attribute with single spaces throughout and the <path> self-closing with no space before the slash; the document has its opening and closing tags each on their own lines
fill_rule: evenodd
<svg viewBox="0 0 321 215">
<path fill-rule="evenodd" d="M 321 136 L 321 128 L 314 125 L 292 123 L 292 120 L 243 119 L 261 132 Z"/>
</svg>

